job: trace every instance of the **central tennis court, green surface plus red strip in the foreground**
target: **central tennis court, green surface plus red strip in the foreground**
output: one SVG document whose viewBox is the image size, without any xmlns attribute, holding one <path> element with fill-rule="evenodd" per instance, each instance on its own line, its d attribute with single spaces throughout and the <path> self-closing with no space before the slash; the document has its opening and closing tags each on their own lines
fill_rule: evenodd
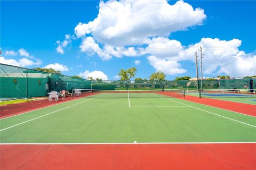
<svg viewBox="0 0 256 170">
<path fill-rule="evenodd" d="M 185 100 L 179 90 L 91 92 L 0 123 L 5 169 L 256 166 L 255 116 Z"/>
</svg>

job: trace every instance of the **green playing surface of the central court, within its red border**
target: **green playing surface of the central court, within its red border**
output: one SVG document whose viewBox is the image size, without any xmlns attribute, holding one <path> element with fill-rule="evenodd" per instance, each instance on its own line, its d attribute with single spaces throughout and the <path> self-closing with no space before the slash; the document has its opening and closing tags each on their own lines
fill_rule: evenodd
<svg viewBox="0 0 256 170">
<path fill-rule="evenodd" d="M 101 93 L 4 118 L 1 143 L 256 141 L 253 116 L 146 95 L 113 98 Z"/>
</svg>

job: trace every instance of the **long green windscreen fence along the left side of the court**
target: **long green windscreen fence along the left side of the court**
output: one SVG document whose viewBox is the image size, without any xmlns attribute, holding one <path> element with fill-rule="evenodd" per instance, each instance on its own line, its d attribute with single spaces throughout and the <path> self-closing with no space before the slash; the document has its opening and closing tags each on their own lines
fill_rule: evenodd
<svg viewBox="0 0 256 170">
<path fill-rule="evenodd" d="M 91 81 L 0 64 L 0 101 L 47 96 L 47 92 L 90 89 Z"/>
</svg>

